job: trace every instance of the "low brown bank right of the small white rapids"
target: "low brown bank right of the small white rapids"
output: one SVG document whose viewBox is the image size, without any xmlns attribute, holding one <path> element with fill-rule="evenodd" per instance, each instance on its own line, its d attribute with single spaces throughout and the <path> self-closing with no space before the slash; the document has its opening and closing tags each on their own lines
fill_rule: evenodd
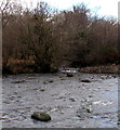
<svg viewBox="0 0 120 130">
<path fill-rule="evenodd" d="M 103 65 L 80 68 L 79 72 L 88 74 L 119 74 L 119 65 Z"/>
</svg>

